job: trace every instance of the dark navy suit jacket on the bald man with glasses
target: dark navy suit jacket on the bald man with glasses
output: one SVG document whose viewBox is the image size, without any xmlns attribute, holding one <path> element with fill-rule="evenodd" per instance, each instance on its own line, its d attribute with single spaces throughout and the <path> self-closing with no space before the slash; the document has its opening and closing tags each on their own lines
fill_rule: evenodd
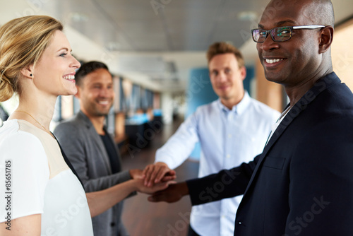
<svg viewBox="0 0 353 236">
<path fill-rule="evenodd" d="M 186 183 L 193 205 L 244 194 L 237 236 L 353 235 L 352 92 L 328 74 L 251 163 Z"/>
</svg>

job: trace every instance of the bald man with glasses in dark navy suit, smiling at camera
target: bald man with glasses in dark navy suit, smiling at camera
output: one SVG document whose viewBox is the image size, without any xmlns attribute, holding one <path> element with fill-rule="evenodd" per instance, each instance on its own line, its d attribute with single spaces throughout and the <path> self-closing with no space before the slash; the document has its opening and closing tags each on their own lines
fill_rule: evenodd
<svg viewBox="0 0 353 236">
<path fill-rule="evenodd" d="M 196 206 L 244 194 L 234 235 L 353 235 L 353 95 L 333 72 L 333 24 L 328 0 L 270 1 L 252 35 L 265 77 L 290 102 L 263 153 L 149 200 L 189 194 Z"/>
</svg>

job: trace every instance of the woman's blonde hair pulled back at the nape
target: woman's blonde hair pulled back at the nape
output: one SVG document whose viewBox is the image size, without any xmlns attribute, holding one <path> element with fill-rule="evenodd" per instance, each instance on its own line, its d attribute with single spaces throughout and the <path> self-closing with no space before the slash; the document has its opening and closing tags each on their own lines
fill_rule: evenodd
<svg viewBox="0 0 353 236">
<path fill-rule="evenodd" d="M 0 28 L 0 102 L 20 94 L 18 77 L 26 66 L 37 64 L 61 23 L 49 16 L 25 16 Z"/>
</svg>

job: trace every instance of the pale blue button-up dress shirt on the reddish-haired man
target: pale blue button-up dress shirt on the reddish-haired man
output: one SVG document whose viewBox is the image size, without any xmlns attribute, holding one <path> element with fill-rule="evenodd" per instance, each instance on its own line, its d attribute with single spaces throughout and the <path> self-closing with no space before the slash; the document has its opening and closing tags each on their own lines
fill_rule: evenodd
<svg viewBox="0 0 353 236">
<path fill-rule="evenodd" d="M 245 93 L 238 105 L 229 110 L 220 99 L 198 107 L 162 148 L 155 162 L 174 169 L 201 143 L 198 177 L 249 162 L 263 151 L 272 125 L 280 112 Z M 242 196 L 193 206 L 191 227 L 198 235 L 234 235 L 235 213 Z"/>
</svg>

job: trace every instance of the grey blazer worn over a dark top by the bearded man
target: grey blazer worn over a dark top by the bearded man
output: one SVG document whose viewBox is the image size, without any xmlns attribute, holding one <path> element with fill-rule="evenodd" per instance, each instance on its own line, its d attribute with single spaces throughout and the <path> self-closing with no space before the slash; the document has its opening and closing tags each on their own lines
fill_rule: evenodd
<svg viewBox="0 0 353 236">
<path fill-rule="evenodd" d="M 95 131 L 90 119 L 83 112 L 78 112 L 68 121 L 56 126 L 54 135 L 78 173 L 86 192 L 107 189 L 131 179 L 127 170 L 112 175 L 104 143 Z M 114 142 L 113 139 L 112 141 Z M 116 153 L 118 153 L 116 158 L 121 163 L 117 148 Z M 122 206 L 122 202 L 118 203 L 99 216 L 92 218 L 95 235 L 128 235 L 121 223 Z"/>
</svg>

